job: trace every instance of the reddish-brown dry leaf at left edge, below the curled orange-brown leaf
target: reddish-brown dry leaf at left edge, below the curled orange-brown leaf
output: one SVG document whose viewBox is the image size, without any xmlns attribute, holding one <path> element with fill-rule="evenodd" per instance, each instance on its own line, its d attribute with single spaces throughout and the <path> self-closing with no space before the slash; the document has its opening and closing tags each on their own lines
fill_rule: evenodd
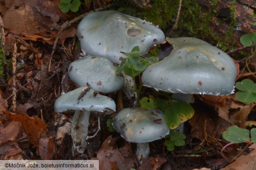
<svg viewBox="0 0 256 170">
<path fill-rule="evenodd" d="M 21 134 L 21 122 L 12 121 L 4 129 L 0 129 L 0 145 L 8 140 L 15 140 L 19 134 Z"/>
</svg>

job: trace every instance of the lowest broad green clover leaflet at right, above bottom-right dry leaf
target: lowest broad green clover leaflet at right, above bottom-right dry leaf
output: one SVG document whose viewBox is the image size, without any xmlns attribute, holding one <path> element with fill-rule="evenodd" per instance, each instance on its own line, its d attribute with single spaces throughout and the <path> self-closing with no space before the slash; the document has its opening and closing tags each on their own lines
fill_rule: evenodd
<svg viewBox="0 0 256 170">
<path fill-rule="evenodd" d="M 249 133 L 248 129 L 242 129 L 235 125 L 228 127 L 227 132 L 222 133 L 222 137 L 231 143 L 249 142 Z"/>
</svg>

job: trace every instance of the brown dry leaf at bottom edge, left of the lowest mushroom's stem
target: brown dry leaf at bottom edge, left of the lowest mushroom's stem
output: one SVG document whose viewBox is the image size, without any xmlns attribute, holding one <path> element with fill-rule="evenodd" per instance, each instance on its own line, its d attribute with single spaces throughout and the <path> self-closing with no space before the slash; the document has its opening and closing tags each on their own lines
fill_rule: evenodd
<svg viewBox="0 0 256 170">
<path fill-rule="evenodd" d="M 116 138 L 108 136 L 102 143 L 97 154 L 100 170 L 130 170 L 133 167 L 133 156 L 130 155 L 128 143 L 121 148 L 116 148 Z"/>
</svg>

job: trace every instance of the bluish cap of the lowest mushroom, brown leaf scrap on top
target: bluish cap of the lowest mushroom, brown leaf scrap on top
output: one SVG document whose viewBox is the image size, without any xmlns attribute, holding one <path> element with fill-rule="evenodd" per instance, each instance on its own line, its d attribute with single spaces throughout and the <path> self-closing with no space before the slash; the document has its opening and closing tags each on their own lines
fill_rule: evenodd
<svg viewBox="0 0 256 170">
<path fill-rule="evenodd" d="M 165 113 L 158 109 L 123 109 L 113 119 L 113 127 L 124 139 L 133 143 L 161 139 L 170 130 L 165 124 Z"/>
</svg>

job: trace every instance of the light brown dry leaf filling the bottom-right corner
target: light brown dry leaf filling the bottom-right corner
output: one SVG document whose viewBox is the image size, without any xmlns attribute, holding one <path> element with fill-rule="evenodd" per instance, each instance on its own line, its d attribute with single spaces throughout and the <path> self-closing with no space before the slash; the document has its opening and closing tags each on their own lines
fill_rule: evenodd
<svg viewBox="0 0 256 170">
<path fill-rule="evenodd" d="M 235 162 L 221 170 L 256 170 L 256 143 L 249 148 L 254 150 L 248 155 L 238 157 Z"/>
</svg>

